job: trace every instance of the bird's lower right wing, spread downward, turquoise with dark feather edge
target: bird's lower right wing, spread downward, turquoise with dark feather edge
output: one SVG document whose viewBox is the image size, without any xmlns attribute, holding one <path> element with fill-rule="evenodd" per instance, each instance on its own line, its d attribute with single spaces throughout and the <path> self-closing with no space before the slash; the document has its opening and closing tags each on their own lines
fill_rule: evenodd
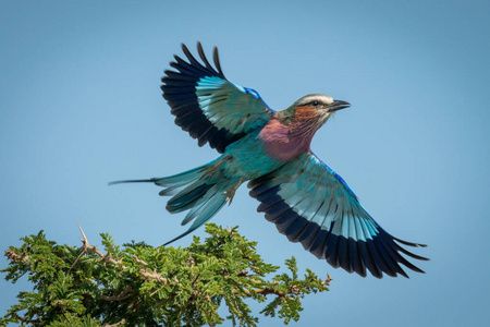
<svg viewBox="0 0 490 327">
<path fill-rule="evenodd" d="M 401 253 L 427 258 L 400 244 L 426 245 L 405 242 L 385 232 L 342 178 L 310 152 L 250 181 L 248 186 L 250 195 L 261 202 L 257 210 L 266 213 L 281 233 L 335 268 L 363 277 L 367 268 L 377 278 L 382 272 L 408 277 L 400 264 L 424 272 Z"/>
</svg>

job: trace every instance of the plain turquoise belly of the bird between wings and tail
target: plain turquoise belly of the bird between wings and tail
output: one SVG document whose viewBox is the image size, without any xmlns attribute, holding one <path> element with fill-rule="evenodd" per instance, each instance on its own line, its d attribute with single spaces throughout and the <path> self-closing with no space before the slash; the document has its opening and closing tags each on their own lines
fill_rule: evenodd
<svg viewBox="0 0 490 327">
<path fill-rule="evenodd" d="M 228 173 L 246 180 L 259 178 L 284 164 L 266 154 L 257 133 L 250 133 L 230 144 L 223 154 L 223 157 L 226 156 L 230 157 L 226 160 Z"/>
</svg>

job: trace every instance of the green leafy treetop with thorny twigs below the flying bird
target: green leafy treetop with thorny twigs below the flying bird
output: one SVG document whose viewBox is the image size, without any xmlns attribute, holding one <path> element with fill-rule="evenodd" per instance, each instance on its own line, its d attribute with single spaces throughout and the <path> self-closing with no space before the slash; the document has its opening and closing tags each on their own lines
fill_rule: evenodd
<svg viewBox="0 0 490 327">
<path fill-rule="evenodd" d="M 15 283 L 24 275 L 32 292 L 21 292 L 0 326 L 256 326 L 245 300 L 266 302 L 260 312 L 287 324 L 297 320 L 301 299 L 327 291 L 330 278 L 319 279 L 307 270 L 297 275 L 296 259 L 285 262 L 291 275 L 265 279 L 279 267 L 266 264 L 256 242 L 236 228 L 206 226 L 204 243 L 194 237 L 185 249 L 152 247 L 143 242 L 118 246 L 102 233 L 105 253 L 88 243 L 57 245 L 42 231 L 22 239 L 21 247 L 5 251 L 9 266 L 1 270 Z M 218 314 L 226 305 L 230 315 Z"/>
</svg>

